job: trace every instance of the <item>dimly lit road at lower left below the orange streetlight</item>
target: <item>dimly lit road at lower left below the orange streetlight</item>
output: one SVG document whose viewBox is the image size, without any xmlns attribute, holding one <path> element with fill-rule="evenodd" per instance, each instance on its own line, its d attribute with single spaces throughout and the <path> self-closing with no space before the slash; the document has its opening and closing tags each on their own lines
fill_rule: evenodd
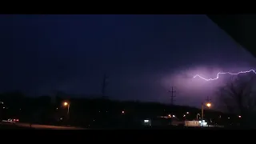
<svg viewBox="0 0 256 144">
<path fill-rule="evenodd" d="M 15 125 L 15 126 L 30 128 L 29 123 L 22 123 L 22 122 L 2 122 L 2 125 Z M 31 126 L 31 128 L 34 128 L 34 129 L 51 129 L 51 130 L 86 130 L 86 129 L 79 128 L 79 127 L 49 126 L 49 125 L 38 125 L 38 124 L 33 124 Z"/>
</svg>

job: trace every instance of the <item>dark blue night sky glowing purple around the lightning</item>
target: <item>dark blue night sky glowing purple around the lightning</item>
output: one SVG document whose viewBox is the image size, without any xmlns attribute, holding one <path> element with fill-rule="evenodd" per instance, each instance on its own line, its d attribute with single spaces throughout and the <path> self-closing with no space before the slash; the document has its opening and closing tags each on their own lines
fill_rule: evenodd
<svg viewBox="0 0 256 144">
<path fill-rule="evenodd" d="M 255 65 L 206 15 L 1 15 L 0 90 L 30 95 L 100 94 L 200 106 L 226 82 L 218 71 Z"/>
</svg>

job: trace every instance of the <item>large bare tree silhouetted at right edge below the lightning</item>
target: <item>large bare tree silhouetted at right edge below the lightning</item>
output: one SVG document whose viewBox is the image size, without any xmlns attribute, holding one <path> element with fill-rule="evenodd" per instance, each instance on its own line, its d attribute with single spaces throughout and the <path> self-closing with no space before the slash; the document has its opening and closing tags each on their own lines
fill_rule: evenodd
<svg viewBox="0 0 256 144">
<path fill-rule="evenodd" d="M 242 75 L 233 78 L 218 90 L 220 105 L 232 114 L 242 115 L 242 122 L 246 124 L 254 119 L 255 84 L 256 75 Z"/>
</svg>

